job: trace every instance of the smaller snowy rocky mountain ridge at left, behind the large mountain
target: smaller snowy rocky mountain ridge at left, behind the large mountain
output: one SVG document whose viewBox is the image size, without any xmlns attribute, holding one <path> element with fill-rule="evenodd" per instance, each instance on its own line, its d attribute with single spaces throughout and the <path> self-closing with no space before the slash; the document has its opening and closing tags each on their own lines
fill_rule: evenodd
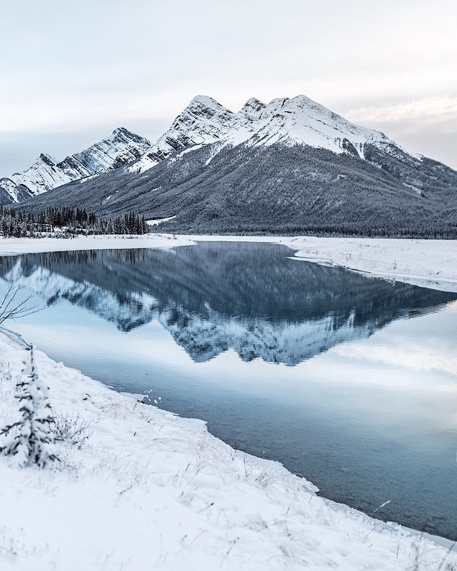
<svg viewBox="0 0 457 571">
<path fill-rule="evenodd" d="M 0 194 L 0 203 L 22 202 L 51 188 L 119 168 L 138 159 L 150 146 L 146 138 L 119 127 L 99 143 L 67 156 L 64 161 L 41 153 L 25 171 L 0 180 L 0 193 L 4 195 Z"/>
</svg>

